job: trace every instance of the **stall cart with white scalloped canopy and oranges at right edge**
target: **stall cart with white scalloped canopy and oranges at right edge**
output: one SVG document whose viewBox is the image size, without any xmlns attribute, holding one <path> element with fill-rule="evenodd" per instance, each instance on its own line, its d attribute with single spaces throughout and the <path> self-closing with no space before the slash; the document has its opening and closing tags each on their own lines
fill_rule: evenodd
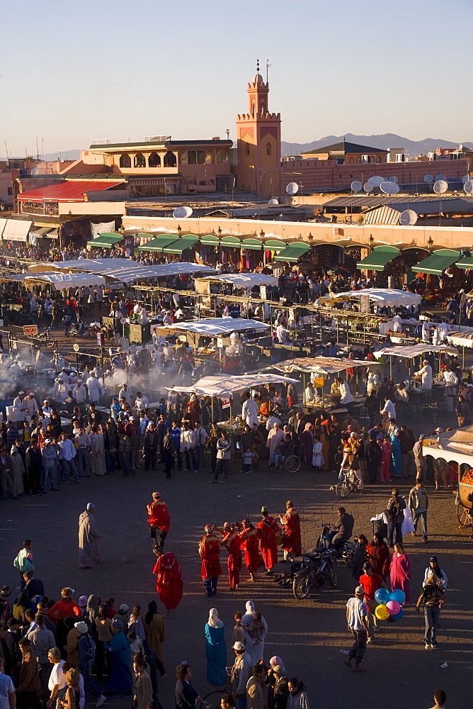
<svg viewBox="0 0 473 709">
<path fill-rule="evenodd" d="M 457 516 L 462 527 L 468 527 L 472 524 L 468 511 L 472 509 L 469 496 L 473 495 L 473 426 L 424 438 L 422 454 L 442 459 L 445 464 L 457 464 Z"/>
</svg>

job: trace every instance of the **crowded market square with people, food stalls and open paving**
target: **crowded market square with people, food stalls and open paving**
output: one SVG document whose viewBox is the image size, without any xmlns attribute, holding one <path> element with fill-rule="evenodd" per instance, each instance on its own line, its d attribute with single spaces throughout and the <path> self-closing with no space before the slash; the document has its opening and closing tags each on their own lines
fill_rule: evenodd
<svg viewBox="0 0 473 709">
<path fill-rule="evenodd" d="M 469 276 L 1 264 L 2 709 L 466 705 Z"/>
</svg>

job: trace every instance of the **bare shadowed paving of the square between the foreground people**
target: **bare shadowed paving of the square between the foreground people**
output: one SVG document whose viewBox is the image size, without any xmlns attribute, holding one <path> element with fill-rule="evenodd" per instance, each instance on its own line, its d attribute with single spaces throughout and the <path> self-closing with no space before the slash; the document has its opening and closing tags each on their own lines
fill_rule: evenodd
<svg viewBox="0 0 473 709">
<path fill-rule="evenodd" d="M 91 478 L 81 486 L 62 484 L 60 492 L 40 498 L 0 503 L 0 583 L 18 586 L 13 559 L 23 538 L 33 540 L 36 576 L 45 584 L 52 598 L 59 598 L 63 586 L 76 589 L 75 598 L 98 593 L 112 595 L 116 606 L 130 608 L 159 599 L 152 575 L 155 557 L 149 540 L 144 507 L 151 493 L 159 490 L 171 514 L 171 531 L 166 550 L 173 551 L 181 565 L 184 596 L 173 616 L 165 620 L 167 639 L 164 665 L 169 681 L 160 681 L 164 709 L 173 709 L 175 666 L 187 660 L 193 666 L 193 683 L 202 694 L 212 690 L 205 678 L 204 625 L 208 611 L 215 606 L 226 626 L 228 664 L 231 649 L 233 615 L 254 601 L 268 623 L 265 659 L 273 654 L 283 658 L 290 676 L 303 679 L 312 708 L 428 708 L 433 705 L 433 690 L 443 688 L 448 695 L 448 709 L 471 706 L 472 696 L 472 582 L 473 542 L 471 530 L 457 523 L 455 497 L 450 491 L 428 488 L 429 542 L 405 538 L 411 558 L 411 595 L 415 600 L 421 590 L 423 569 L 431 554 L 438 554 L 448 575 L 445 609 L 440 618 L 439 648 L 423 647 L 423 615 L 411 606 L 399 622 L 382 628 L 375 644 L 367 647 L 365 674 L 355 674 L 344 664 L 343 650 L 351 646 L 346 630 L 345 604 L 353 595 L 355 583 L 351 571 L 340 563 L 338 588 L 322 588 L 317 596 L 298 602 L 292 593 L 258 574 L 252 584 L 243 573 L 238 591 L 228 590 L 222 574 L 217 596 L 204 596 L 200 581 L 198 541 L 207 523 L 222 525 L 227 520 L 249 517 L 259 520 L 259 510 L 266 504 L 270 514 L 285 509 L 292 499 L 300 511 L 302 543 L 311 548 L 322 520 L 334 522 L 340 500 L 329 487 L 336 475 L 328 472 L 299 471 L 296 474 L 271 473 L 266 468 L 250 475 L 235 466 L 227 484 L 211 485 L 211 476 L 200 471 L 176 471 L 166 480 L 159 471 L 144 473 L 135 479 L 122 478 L 120 471 L 103 478 Z M 401 493 L 407 494 L 412 479 L 402 481 Z M 370 518 L 387 504 L 390 484 L 378 484 L 363 495 L 351 493 L 346 508 L 355 517 L 355 532 L 372 531 Z M 90 570 L 79 570 L 77 520 L 87 502 L 96 504 L 96 521 L 103 535 L 99 542 L 100 563 Z M 222 552 L 226 567 L 226 552 Z M 285 570 L 278 564 L 276 570 Z M 159 608 L 162 609 L 161 603 Z M 440 669 L 444 662 L 448 669 Z M 130 697 L 114 697 L 106 706 L 129 709 Z M 214 702 L 214 706 L 216 702 Z"/>
</svg>

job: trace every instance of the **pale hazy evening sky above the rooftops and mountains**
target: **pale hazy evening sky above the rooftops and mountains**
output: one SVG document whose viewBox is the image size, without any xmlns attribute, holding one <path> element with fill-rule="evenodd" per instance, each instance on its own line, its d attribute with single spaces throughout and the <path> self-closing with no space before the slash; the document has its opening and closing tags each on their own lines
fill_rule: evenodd
<svg viewBox="0 0 473 709">
<path fill-rule="evenodd" d="M 234 138 L 257 57 L 283 140 L 473 140 L 472 23 L 472 0 L 5 2 L 0 155 Z"/>
</svg>

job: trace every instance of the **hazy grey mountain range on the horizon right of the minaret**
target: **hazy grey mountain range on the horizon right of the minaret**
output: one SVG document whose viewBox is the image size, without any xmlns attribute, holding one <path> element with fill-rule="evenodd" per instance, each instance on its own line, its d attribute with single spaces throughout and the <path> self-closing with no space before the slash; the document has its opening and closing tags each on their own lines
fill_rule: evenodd
<svg viewBox="0 0 473 709">
<path fill-rule="evenodd" d="M 457 147 L 460 144 L 452 143 L 450 140 L 441 140 L 440 138 L 409 140 L 409 138 L 402 138 L 401 135 L 396 135 L 395 133 L 383 133 L 382 135 L 353 135 L 353 133 L 346 133 L 345 135 L 326 135 L 325 138 L 313 140 L 312 143 L 286 143 L 283 140 L 281 143 L 281 155 L 300 155 L 307 150 L 340 143 L 343 138 L 350 143 L 359 143 L 360 145 L 367 145 L 367 147 L 380 147 L 382 150 L 387 150 L 388 147 L 404 147 L 406 155 L 411 155 L 411 157 L 426 155 L 427 152 L 435 150 L 436 147 Z M 473 143 L 462 143 L 462 145 L 473 147 Z"/>
</svg>

